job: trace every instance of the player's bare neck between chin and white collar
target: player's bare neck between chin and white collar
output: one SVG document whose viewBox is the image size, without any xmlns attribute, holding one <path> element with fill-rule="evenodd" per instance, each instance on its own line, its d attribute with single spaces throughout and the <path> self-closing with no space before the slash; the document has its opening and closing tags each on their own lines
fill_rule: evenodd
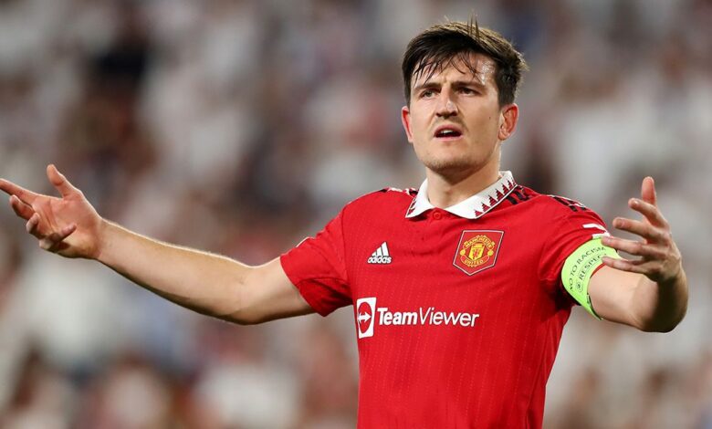
<svg viewBox="0 0 712 429">
<path fill-rule="evenodd" d="M 499 179 L 499 164 L 493 162 L 475 173 L 449 174 L 426 171 L 428 200 L 438 208 L 455 205 L 486 189 Z"/>
</svg>

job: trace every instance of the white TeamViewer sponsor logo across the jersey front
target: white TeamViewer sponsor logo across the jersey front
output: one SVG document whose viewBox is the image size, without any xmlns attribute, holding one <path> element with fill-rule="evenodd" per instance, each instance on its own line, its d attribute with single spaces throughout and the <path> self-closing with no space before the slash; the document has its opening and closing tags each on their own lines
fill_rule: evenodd
<svg viewBox="0 0 712 429">
<path fill-rule="evenodd" d="M 373 336 L 378 326 L 444 326 L 472 328 L 478 313 L 464 311 L 442 311 L 435 307 L 419 307 L 411 311 L 393 311 L 387 307 L 377 307 L 376 298 L 356 300 L 356 326 L 359 338 Z"/>
</svg>

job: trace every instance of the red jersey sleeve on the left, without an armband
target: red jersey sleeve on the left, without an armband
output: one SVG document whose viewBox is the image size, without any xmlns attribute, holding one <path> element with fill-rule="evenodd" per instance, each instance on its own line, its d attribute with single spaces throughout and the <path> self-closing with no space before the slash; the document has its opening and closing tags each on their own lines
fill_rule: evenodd
<svg viewBox="0 0 712 429">
<path fill-rule="evenodd" d="M 314 237 L 279 257 L 287 277 L 321 316 L 351 304 L 343 240 L 343 211 Z"/>
</svg>

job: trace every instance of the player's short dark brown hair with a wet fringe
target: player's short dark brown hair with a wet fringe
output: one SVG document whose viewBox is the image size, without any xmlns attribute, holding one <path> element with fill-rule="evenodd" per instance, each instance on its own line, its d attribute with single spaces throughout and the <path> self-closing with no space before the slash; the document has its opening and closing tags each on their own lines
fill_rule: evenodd
<svg viewBox="0 0 712 429">
<path fill-rule="evenodd" d="M 469 61 L 469 55 L 474 53 L 487 55 L 497 65 L 495 84 L 499 105 L 514 102 L 522 74 L 528 69 L 521 53 L 497 31 L 480 27 L 476 21 L 451 21 L 426 29 L 405 49 L 402 68 L 406 103 L 411 102 L 413 78 L 420 73 L 428 72 L 432 76 L 456 60 L 476 73 Z"/>
</svg>

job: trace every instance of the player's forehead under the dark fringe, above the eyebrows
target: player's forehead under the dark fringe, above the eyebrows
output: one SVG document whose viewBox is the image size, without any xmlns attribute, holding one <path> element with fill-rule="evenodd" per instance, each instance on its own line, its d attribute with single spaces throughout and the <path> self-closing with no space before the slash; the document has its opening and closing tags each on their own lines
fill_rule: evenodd
<svg viewBox="0 0 712 429">
<path fill-rule="evenodd" d="M 447 80 L 475 80 L 482 85 L 495 85 L 496 69 L 497 65 L 492 58 L 485 54 L 470 53 L 420 68 L 414 73 L 412 85 Z"/>
</svg>

